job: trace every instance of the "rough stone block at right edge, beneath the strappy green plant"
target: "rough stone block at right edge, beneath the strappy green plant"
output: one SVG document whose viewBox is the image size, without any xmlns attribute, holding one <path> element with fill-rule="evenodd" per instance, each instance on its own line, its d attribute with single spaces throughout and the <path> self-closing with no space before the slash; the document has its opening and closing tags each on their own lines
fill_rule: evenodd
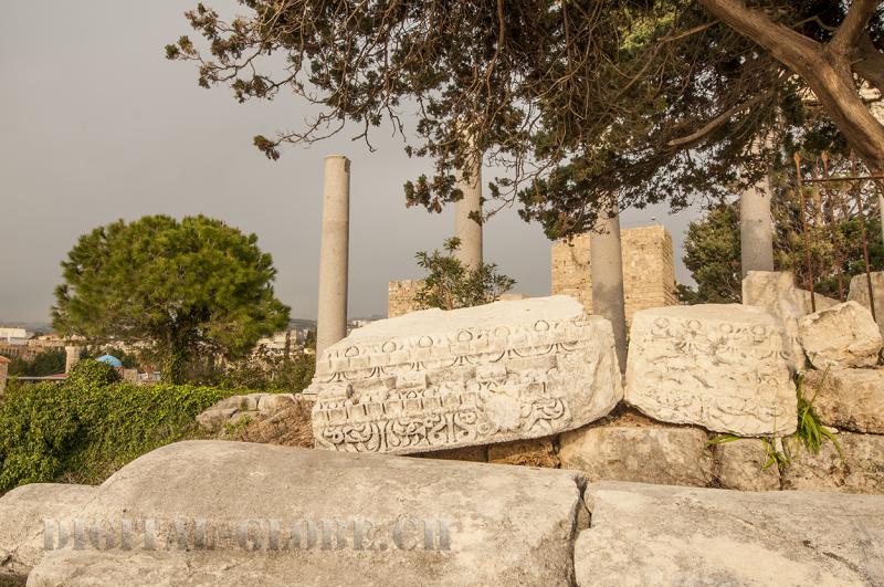
<svg viewBox="0 0 884 587">
<path fill-rule="evenodd" d="M 884 436 L 836 434 L 842 459 L 830 441 L 818 454 L 789 441 L 791 460 L 782 472 L 782 489 L 884 494 Z"/>
</svg>

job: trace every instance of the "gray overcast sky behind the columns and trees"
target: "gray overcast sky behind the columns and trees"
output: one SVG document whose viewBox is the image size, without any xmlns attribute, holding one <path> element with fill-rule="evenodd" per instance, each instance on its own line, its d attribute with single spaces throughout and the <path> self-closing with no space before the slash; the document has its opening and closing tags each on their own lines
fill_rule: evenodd
<svg viewBox="0 0 884 587">
<path fill-rule="evenodd" d="M 232 0 L 207 0 L 223 15 Z M 278 270 L 276 293 L 294 317 L 315 317 L 322 161 L 352 160 L 350 315 L 386 314 L 387 282 L 419 276 L 414 252 L 439 248 L 451 210 L 406 209 L 402 184 L 429 169 L 387 132 L 377 151 L 339 135 L 269 161 L 255 134 L 297 127 L 294 97 L 241 105 L 224 88 L 202 90 L 192 64 L 164 45 L 192 34 L 196 0 L 4 2 L 0 19 L 0 321 L 45 321 L 60 261 L 92 228 L 118 218 L 204 213 L 259 235 Z M 486 177 L 493 171 L 486 169 Z M 683 232 L 695 212 L 630 210 L 628 228 L 656 217 L 672 232 L 680 281 Z M 505 210 L 485 229 L 485 259 L 549 293 L 549 242 Z"/>
</svg>

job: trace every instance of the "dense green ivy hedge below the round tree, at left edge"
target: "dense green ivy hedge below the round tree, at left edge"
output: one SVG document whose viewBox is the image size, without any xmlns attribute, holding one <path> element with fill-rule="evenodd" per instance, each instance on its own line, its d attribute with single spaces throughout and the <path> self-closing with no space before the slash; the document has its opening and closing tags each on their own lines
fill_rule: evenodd
<svg viewBox="0 0 884 587">
<path fill-rule="evenodd" d="M 61 384 L 12 385 L 0 399 L 0 494 L 25 483 L 97 483 L 197 433 L 194 418 L 234 391 L 118 382 L 94 360 Z"/>
</svg>

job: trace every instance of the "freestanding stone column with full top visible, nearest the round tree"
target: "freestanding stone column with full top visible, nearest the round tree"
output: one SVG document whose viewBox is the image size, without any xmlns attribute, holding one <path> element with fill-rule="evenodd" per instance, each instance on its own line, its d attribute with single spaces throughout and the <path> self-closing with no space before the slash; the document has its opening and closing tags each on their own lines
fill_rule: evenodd
<svg viewBox="0 0 884 587">
<path fill-rule="evenodd" d="M 347 336 L 347 275 L 350 242 L 350 160 L 325 158 L 323 235 L 319 251 L 319 310 L 316 319 L 316 359 Z"/>
</svg>

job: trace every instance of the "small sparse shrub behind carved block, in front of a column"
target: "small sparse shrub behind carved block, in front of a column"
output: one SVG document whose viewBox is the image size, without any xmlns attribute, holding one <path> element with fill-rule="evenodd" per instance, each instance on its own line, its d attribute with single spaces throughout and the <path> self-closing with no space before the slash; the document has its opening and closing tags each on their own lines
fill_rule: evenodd
<svg viewBox="0 0 884 587">
<path fill-rule="evenodd" d="M 427 271 L 423 285 L 414 295 L 421 307 L 456 310 L 487 304 L 515 285 L 515 280 L 497 273 L 496 264 L 464 266 L 455 256 L 460 245 L 460 240 L 452 238 L 445 241 L 444 253 L 439 250 L 417 253 L 418 265 Z"/>
</svg>

